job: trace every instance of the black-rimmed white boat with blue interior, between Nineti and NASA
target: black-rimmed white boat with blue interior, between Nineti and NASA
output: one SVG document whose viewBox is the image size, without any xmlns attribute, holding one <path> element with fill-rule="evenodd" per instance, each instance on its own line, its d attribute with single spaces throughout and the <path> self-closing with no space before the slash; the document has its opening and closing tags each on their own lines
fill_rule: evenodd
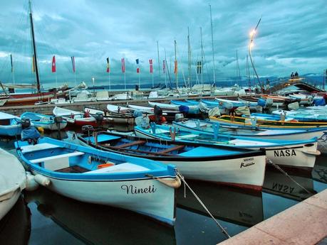
<svg viewBox="0 0 327 245">
<path fill-rule="evenodd" d="M 81 144 L 103 151 L 111 151 L 159 160 L 176 165 L 188 179 L 209 181 L 261 190 L 264 183 L 266 154 L 228 146 L 199 146 L 197 143 L 163 141 L 157 139 L 123 136 L 101 131 L 90 136 L 78 136 Z M 248 170 L 242 168 L 244 159 L 251 158 Z"/>
</svg>

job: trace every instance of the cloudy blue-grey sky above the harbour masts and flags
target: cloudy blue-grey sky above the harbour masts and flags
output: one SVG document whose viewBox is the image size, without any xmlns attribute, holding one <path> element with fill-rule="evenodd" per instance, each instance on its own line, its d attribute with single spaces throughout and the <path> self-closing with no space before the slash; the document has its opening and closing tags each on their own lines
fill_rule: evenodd
<svg viewBox="0 0 327 245">
<path fill-rule="evenodd" d="M 138 83 L 135 59 L 140 59 L 141 83 L 151 83 L 149 59 L 153 59 L 155 84 L 165 82 L 162 60 L 167 54 L 173 72 L 174 40 L 177 41 L 179 80 L 187 72 L 187 27 L 190 28 L 192 64 L 201 57 L 200 31 L 204 45 L 205 82 L 212 81 L 212 48 L 209 4 L 212 4 L 216 80 L 234 80 L 236 52 L 241 75 L 246 75 L 249 32 L 261 18 L 252 57 L 259 76 L 288 76 L 292 71 L 322 73 L 327 68 L 327 5 L 324 0 L 34 0 L 33 18 L 38 47 L 41 82 L 45 87 L 69 82 L 74 75 L 71 56 L 76 58 L 76 80 L 91 85 L 108 84 L 107 57 L 112 84 L 124 76 L 120 60 L 125 58 L 126 81 Z M 27 0 L 1 0 L 0 81 L 11 82 L 9 54 L 14 56 L 16 82 L 31 82 L 31 38 Z M 160 79 L 157 64 L 160 52 Z M 51 73 L 56 55 L 57 72 Z M 251 70 L 252 73 L 252 70 Z M 172 80 L 175 80 L 173 74 Z M 167 80 L 168 77 L 167 77 Z M 196 81 L 192 66 L 192 82 Z"/>
</svg>

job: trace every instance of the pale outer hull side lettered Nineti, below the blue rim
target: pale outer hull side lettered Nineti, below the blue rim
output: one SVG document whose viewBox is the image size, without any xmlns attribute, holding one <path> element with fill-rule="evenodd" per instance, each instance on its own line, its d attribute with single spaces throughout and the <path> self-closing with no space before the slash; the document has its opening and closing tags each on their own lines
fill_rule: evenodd
<svg viewBox="0 0 327 245">
<path fill-rule="evenodd" d="M 41 174 L 33 170 L 33 174 Z M 82 202 L 129 209 L 157 219 L 175 223 L 175 189 L 158 180 L 69 180 L 52 178 L 49 189 Z M 173 180 L 165 178 L 165 180 Z"/>
</svg>

